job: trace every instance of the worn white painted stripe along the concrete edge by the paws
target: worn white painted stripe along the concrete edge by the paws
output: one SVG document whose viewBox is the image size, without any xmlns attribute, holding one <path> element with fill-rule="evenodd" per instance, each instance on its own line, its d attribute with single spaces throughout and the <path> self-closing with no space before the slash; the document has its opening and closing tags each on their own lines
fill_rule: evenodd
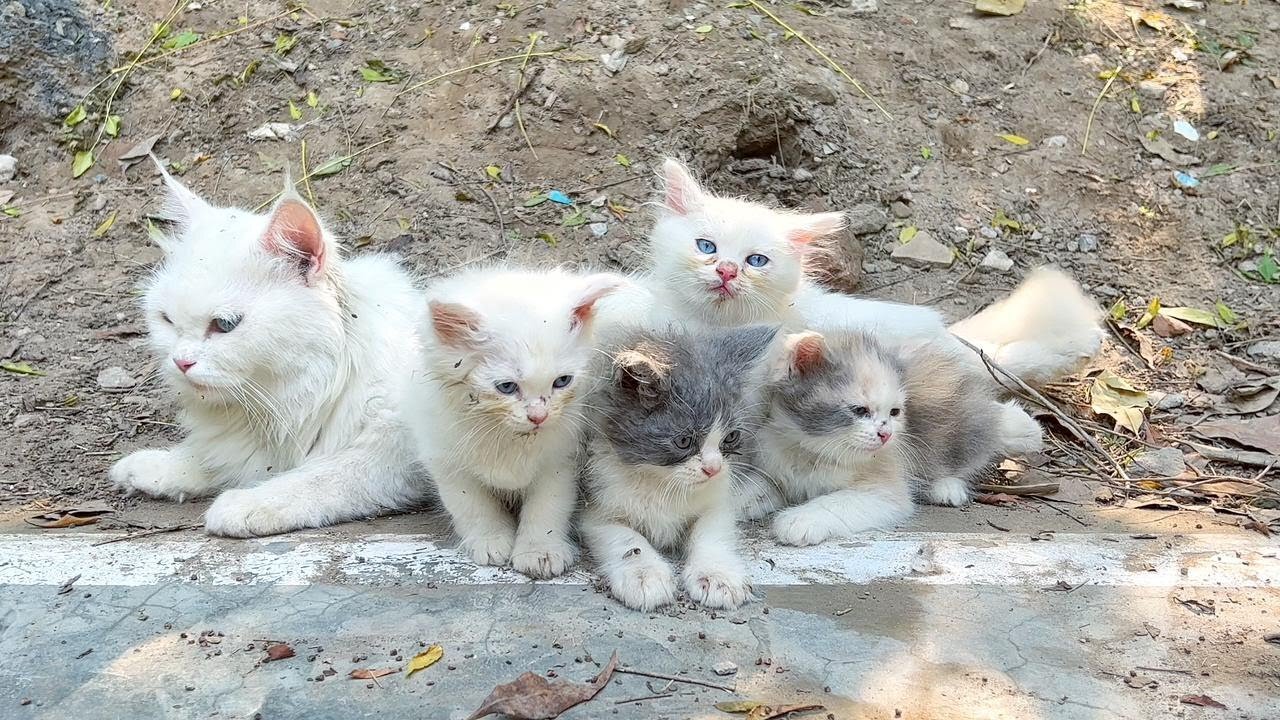
<svg viewBox="0 0 1280 720">
<path fill-rule="evenodd" d="M 316 534 L 233 541 L 142 538 L 95 546 L 102 534 L 0 534 L 0 584 L 154 585 L 388 585 L 512 584 L 511 570 L 483 568 L 430 536 L 369 536 L 338 541 Z M 758 585 L 922 584 L 1052 587 L 1280 587 L 1277 544 L 1242 534 L 1027 536 L 878 533 L 817 547 L 748 539 Z M 584 584 L 585 571 L 552 580 Z"/>
</svg>

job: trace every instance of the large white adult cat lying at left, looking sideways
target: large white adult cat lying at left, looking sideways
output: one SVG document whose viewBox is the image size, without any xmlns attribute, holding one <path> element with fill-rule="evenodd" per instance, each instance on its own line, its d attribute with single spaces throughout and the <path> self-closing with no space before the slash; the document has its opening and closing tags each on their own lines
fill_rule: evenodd
<svg viewBox="0 0 1280 720">
<path fill-rule="evenodd" d="M 387 256 L 344 260 L 285 192 L 266 215 L 215 208 L 164 173 L 164 260 L 143 313 L 186 438 L 118 461 L 125 492 L 225 489 L 209 533 L 266 536 L 402 509 L 420 497 L 397 388 L 421 296 Z"/>
</svg>

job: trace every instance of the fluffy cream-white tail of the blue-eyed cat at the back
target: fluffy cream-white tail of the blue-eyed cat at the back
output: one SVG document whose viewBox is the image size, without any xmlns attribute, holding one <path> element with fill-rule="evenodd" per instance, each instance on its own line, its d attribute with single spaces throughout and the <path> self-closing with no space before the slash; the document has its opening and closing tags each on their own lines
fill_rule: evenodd
<svg viewBox="0 0 1280 720">
<path fill-rule="evenodd" d="M 1068 375 L 1102 347 L 1100 310 L 1066 273 L 1038 268 L 983 311 L 951 325 L 1028 384 Z"/>
</svg>

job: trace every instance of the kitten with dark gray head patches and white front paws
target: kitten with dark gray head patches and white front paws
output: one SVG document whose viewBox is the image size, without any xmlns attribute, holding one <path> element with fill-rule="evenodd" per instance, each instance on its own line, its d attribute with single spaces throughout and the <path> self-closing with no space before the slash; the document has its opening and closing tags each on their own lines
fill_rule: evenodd
<svg viewBox="0 0 1280 720">
<path fill-rule="evenodd" d="M 673 602 L 676 574 L 662 552 L 681 547 L 692 600 L 732 609 L 750 596 L 732 486 L 774 334 L 630 331 L 612 345 L 609 378 L 589 402 L 582 539 L 623 605 Z"/>
</svg>

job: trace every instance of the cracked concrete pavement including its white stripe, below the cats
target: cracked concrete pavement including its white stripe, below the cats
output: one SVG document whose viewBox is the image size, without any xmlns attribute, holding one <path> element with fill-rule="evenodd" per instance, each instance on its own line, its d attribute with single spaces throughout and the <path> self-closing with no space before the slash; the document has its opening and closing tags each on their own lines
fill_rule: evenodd
<svg viewBox="0 0 1280 720">
<path fill-rule="evenodd" d="M 1142 532 L 1157 538 L 1135 539 L 1125 534 L 1132 525 L 1101 518 L 1088 530 L 1050 527 L 1074 534 L 1029 541 L 1043 537 L 1048 518 L 1006 514 L 1000 524 L 1012 532 L 974 532 L 988 512 L 931 511 L 906 533 L 810 555 L 753 542 L 768 580 L 762 598 L 716 614 L 632 612 L 586 573 L 535 584 L 475 568 L 433 570 L 404 550 L 430 546 L 428 557 L 453 562 L 443 528 L 428 523 L 435 542 L 424 541 L 421 519 L 319 539 L 206 546 L 198 534 L 164 536 L 97 546 L 97 555 L 83 552 L 97 537 L 9 534 L 0 717 L 452 720 L 525 670 L 588 679 L 614 650 L 625 666 L 736 693 L 616 675 L 564 717 L 727 717 L 713 705 L 732 698 L 815 702 L 841 720 L 1280 717 L 1280 646 L 1263 639 L 1280 630 L 1274 541 L 1149 524 Z M 397 534 L 407 528 L 417 534 Z M 0 532 L 15 529 L 0 523 Z M 65 594 L 60 566 L 14 552 L 51 537 L 82 562 L 82 580 Z M 351 543 L 365 543 L 370 557 L 332 555 Z M 165 559 L 188 546 L 197 550 L 182 552 L 200 566 Z M 899 556 L 904 547 L 932 553 L 928 573 Z M 1014 566 L 1009 552 L 1019 547 L 1034 562 Z M 1075 564 L 1043 566 L 1073 553 Z M 1005 574 L 993 569 L 1002 565 Z M 1065 587 L 1044 582 L 1055 577 Z M 200 639 L 207 632 L 221 633 L 216 644 Z M 262 662 L 265 641 L 297 655 Z M 444 647 L 444 660 L 412 678 L 347 679 L 357 667 L 403 666 L 430 643 Z M 712 673 L 726 660 L 739 665 L 736 676 Z M 622 702 L 655 694 L 669 697 Z M 1228 710 L 1183 703 L 1189 696 Z"/>
</svg>

